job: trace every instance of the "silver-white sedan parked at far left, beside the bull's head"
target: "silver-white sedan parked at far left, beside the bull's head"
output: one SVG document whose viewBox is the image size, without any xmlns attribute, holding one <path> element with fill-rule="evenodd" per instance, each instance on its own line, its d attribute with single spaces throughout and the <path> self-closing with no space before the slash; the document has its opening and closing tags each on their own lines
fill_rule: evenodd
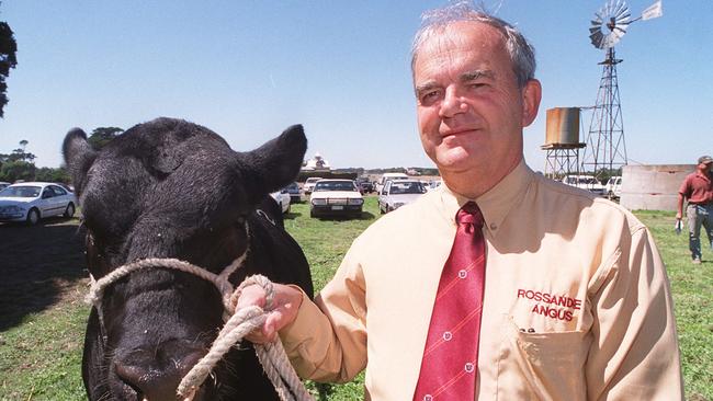
<svg viewBox="0 0 713 401">
<path fill-rule="evenodd" d="M 0 191 L 0 221 L 26 221 L 29 225 L 36 225 L 45 217 L 72 217 L 75 205 L 75 194 L 57 184 L 12 184 Z"/>
</svg>

